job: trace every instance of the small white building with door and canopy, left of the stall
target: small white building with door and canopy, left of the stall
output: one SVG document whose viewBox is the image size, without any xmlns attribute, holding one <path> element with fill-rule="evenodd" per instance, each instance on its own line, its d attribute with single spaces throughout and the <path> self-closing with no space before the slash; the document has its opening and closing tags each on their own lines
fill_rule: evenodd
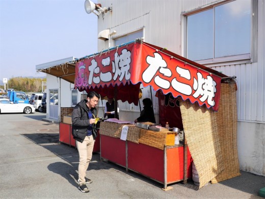
<svg viewBox="0 0 265 199">
<path fill-rule="evenodd" d="M 79 92 L 74 90 L 74 84 L 71 81 L 64 79 L 69 76 L 68 79 L 72 79 L 71 76 L 75 75 L 75 66 L 66 64 L 73 61 L 74 57 L 51 61 L 43 64 L 36 65 L 37 71 L 46 70 L 47 84 L 46 84 L 46 119 L 51 121 L 61 121 L 60 113 L 61 107 L 74 107 L 81 101 L 82 94 L 85 92 Z M 57 66 L 52 70 L 52 67 Z M 72 67 L 70 69 L 70 67 Z M 57 72 L 57 71 L 58 72 Z M 74 78 L 73 78 L 74 80 Z M 102 115 L 102 114 L 101 114 Z"/>
</svg>

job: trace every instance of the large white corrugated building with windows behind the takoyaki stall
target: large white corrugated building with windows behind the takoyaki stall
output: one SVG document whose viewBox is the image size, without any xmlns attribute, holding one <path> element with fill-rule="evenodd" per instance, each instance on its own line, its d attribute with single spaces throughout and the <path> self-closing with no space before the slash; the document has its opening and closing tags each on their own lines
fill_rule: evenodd
<svg viewBox="0 0 265 199">
<path fill-rule="evenodd" d="M 236 76 L 240 168 L 265 176 L 264 0 L 101 0 L 98 3 L 112 7 L 112 12 L 98 16 L 98 52 L 143 37 L 148 43 L 166 47 L 227 76 Z M 62 63 L 65 61 L 59 64 Z M 40 68 L 43 65 L 36 66 Z M 74 85 L 59 80 L 47 74 L 47 90 L 51 93 L 57 89 L 61 96 L 59 106 L 71 107 Z M 80 101 L 81 93 L 77 93 Z M 153 98 L 158 121 L 154 94 L 145 88 L 143 98 Z M 133 121 L 139 116 L 140 108 L 135 105 L 119 102 L 119 108 L 122 120 Z M 54 110 L 52 105 L 47 108 L 47 117 L 56 118 L 51 110 Z"/>
</svg>

